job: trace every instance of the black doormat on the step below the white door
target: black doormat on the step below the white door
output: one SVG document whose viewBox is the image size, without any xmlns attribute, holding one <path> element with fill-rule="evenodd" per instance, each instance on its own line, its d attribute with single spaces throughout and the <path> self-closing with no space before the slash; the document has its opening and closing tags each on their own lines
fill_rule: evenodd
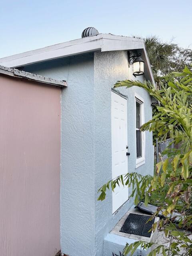
<svg viewBox="0 0 192 256">
<path fill-rule="evenodd" d="M 155 220 L 153 218 L 148 221 L 150 218 L 151 216 L 130 213 L 119 231 L 127 234 L 150 237 L 151 232 L 148 231 L 152 228 Z"/>
</svg>

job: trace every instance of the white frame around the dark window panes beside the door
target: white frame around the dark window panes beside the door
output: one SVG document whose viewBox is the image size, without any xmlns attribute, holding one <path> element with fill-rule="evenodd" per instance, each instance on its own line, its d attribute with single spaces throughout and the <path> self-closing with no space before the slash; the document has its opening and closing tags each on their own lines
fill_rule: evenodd
<svg viewBox="0 0 192 256">
<path fill-rule="evenodd" d="M 143 125 L 145 123 L 145 116 L 144 116 L 144 100 L 143 98 L 138 95 L 136 92 L 134 94 L 134 105 L 135 105 L 135 156 L 136 156 L 136 166 L 135 168 L 138 168 L 139 166 L 145 164 L 145 132 L 141 133 L 142 137 L 142 157 L 137 158 L 137 142 L 136 142 L 136 102 L 140 104 L 140 123 Z"/>
</svg>

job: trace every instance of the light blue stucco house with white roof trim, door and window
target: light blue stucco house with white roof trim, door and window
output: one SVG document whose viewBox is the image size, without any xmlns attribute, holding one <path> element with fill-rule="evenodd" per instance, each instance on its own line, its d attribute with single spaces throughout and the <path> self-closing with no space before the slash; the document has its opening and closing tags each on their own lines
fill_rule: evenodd
<svg viewBox="0 0 192 256">
<path fill-rule="evenodd" d="M 144 74 L 133 75 L 130 53 L 140 54 Z M 61 252 L 108 255 L 104 240 L 133 206 L 133 200 L 127 188 L 117 188 L 113 194 L 108 192 L 106 200 L 97 201 L 98 188 L 127 172 L 153 175 L 152 133 L 139 131 L 139 126 L 152 118 L 152 98 L 141 88 L 113 89 L 118 80 L 154 82 L 143 40 L 98 34 L 2 58 L 0 65 L 66 81 L 56 103 L 61 101 L 61 132 L 52 131 L 60 136 L 58 146 L 61 143 L 57 152 Z M 44 161 L 48 158 L 44 156 Z M 53 255 L 46 253 L 41 255 Z"/>
</svg>

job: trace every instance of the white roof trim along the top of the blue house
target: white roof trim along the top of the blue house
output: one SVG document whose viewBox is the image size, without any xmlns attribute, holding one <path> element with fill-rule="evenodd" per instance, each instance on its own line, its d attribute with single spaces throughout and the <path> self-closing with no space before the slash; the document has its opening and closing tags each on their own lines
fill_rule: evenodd
<svg viewBox="0 0 192 256">
<path fill-rule="evenodd" d="M 15 68 L 86 52 L 106 52 L 137 49 L 144 50 L 144 55 L 147 62 L 146 64 L 148 66 L 148 73 L 151 81 L 154 82 L 144 40 L 126 36 L 115 36 L 112 34 L 98 34 L 94 36 L 88 36 L 69 42 L 55 44 L 37 50 L 0 58 L 0 64 L 3 66 Z"/>
</svg>

